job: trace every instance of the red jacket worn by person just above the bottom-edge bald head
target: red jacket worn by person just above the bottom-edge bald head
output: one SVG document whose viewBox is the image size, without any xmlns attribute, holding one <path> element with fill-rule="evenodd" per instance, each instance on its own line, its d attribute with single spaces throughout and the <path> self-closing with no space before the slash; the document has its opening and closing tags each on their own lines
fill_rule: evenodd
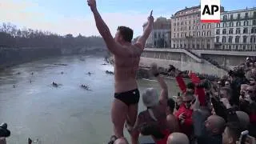
<svg viewBox="0 0 256 144">
<path fill-rule="evenodd" d="M 182 104 L 178 111 L 174 114 L 176 118 L 178 118 L 178 116 L 182 113 L 185 113 L 186 118 L 183 124 L 180 123 L 180 128 L 181 128 L 181 132 L 186 134 L 189 138 L 190 135 L 193 132 L 193 121 L 192 121 L 192 113 L 193 110 L 191 109 L 186 109 L 186 106 L 184 104 Z"/>
</svg>

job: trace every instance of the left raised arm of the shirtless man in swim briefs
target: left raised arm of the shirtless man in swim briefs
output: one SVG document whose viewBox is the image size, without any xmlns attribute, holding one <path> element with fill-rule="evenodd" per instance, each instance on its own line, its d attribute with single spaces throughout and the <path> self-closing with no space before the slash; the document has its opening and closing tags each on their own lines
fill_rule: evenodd
<svg viewBox="0 0 256 144">
<path fill-rule="evenodd" d="M 102 35 L 102 38 L 106 42 L 107 48 L 110 50 L 112 54 L 117 54 L 120 56 L 128 56 L 132 52 L 128 49 L 122 49 L 121 45 L 114 41 L 113 36 L 110 33 L 110 29 L 106 26 L 106 23 L 103 21 L 101 15 L 98 13 L 96 1 L 95 0 L 87 0 L 88 5 L 90 6 L 90 10 L 94 14 L 95 23 L 98 29 L 98 32 Z"/>
</svg>

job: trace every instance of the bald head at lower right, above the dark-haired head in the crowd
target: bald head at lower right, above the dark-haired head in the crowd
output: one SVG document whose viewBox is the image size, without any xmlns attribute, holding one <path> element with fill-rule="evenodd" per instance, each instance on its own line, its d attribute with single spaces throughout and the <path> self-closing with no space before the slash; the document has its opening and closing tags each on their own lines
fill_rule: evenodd
<svg viewBox="0 0 256 144">
<path fill-rule="evenodd" d="M 206 130 L 213 134 L 222 134 L 225 128 L 225 119 L 218 115 L 211 115 L 206 120 Z"/>
</svg>

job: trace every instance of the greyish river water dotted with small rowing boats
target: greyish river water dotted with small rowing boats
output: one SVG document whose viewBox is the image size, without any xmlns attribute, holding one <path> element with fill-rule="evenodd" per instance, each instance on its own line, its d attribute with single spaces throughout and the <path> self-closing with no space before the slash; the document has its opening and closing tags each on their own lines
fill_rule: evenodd
<svg viewBox="0 0 256 144">
<path fill-rule="evenodd" d="M 27 138 L 38 138 L 43 144 L 106 143 L 112 134 L 114 75 L 105 71 L 114 68 L 102 63 L 101 56 L 65 56 L 0 72 L 0 122 L 7 122 L 11 131 L 7 142 L 22 144 Z M 86 74 L 89 71 L 93 74 Z M 52 82 L 62 85 L 55 88 Z M 170 95 L 177 94 L 174 80 L 166 82 Z M 82 84 L 91 91 L 82 90 Z M 154 81 L 138 80 L 138 86 L 141 92 L 150 86 L 159 89 Z M 139 110 L 144 110 L 142 102 Z"/>
</svg>

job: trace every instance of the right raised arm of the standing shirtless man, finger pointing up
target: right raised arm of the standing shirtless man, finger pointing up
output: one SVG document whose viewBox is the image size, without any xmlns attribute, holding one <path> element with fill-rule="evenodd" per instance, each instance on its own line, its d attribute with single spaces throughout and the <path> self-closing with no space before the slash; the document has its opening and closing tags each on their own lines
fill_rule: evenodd
<svg viewBox="0 0 256 144">
<path fill-rule="evenodd" d="M 135 45 L 142 48 L 142 50 L 144 50 L 146 39 L 149 38 L 152 27 L 153 27 L 154 17 L 152 16 L 152 13 L 153 13 L 153 10 L 151 10 L 151 12 L 150 12 L 150 17 L 147 18 L 148 19 L 147 25 L 146 25 L 145 30 L 143 31 L 142 36 L 140 38 L 138 38 L 137 42 L 135 43 Z"/>
</svg>

